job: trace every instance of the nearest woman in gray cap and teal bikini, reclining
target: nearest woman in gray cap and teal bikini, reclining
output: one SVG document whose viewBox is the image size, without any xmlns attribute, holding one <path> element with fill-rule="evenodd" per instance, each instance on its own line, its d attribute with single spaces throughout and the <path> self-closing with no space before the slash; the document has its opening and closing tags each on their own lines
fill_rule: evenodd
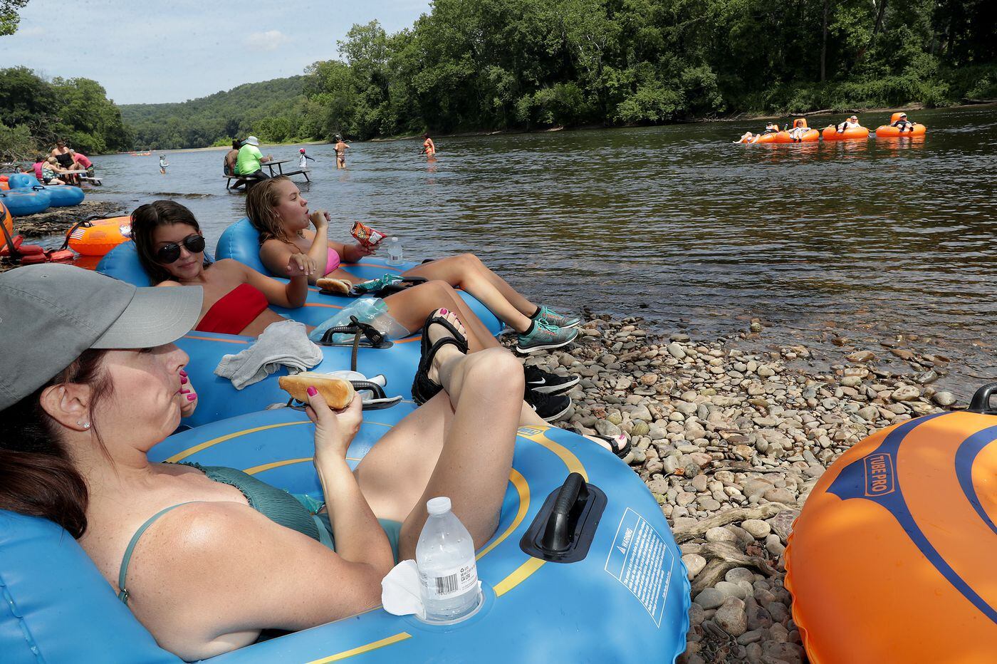
<svg viewBox="0 0 997 664">
<path fill-rule="evenodd" d="M 65 265 L 0 275 L 0 508 L 69 530 L 162 647 L 196 660 L 377 606 L 392 539 L 414 557 L 428 498 L 450 497 L 476 545 L 494 534 L 516 428 L 542 422 L 523 410 L 518 361 L 465 355 L 446 309 L 424 331 L 426 377 L 443 391 L 355 472 L 360 400 L 334 413 L 309 388 L 324 535 L 295 498 L 241 471 L 151 463 L 189 385 L 172 341 L 200 303 L 199 288 Z"/>
</svg>

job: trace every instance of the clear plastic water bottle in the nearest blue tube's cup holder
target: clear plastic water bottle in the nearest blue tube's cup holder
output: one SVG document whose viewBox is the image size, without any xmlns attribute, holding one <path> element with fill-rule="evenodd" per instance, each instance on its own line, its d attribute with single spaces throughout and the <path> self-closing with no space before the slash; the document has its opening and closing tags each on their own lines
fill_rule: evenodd
<svg viewBox="0 0 997 664">
<path fill-rule="evenodd" d="M 459 620 L 478 608 L 478 564 L 475 543 L 450 509 L 450 498 L 432 498 L 430 516 L 416 544 L 416 564 L 426 620 Z"/>
</svg>

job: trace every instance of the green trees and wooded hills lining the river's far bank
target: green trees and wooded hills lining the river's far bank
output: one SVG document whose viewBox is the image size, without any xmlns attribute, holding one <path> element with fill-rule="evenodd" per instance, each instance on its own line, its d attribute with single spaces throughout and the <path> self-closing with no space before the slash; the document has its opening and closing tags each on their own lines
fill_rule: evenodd
<svg viewBox="0 0 997 664">
<path fill-rule="evenodd" d="M 396 33 L 354 25 L 300 76 L 177 104 L 89 88 L 130 133 L 116 149 L 143 151 L 947 107 L 997 99 L 993 19 L 976 0 L 437 0 Z"/>
</svg>

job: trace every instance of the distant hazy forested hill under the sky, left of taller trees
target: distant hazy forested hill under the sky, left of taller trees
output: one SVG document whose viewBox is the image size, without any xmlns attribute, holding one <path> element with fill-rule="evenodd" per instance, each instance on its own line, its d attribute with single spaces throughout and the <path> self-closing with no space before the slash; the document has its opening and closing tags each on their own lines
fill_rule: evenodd
<svg viewBox="0 0 997 664">
<path fill-rule="evenodd" d="M 247 83 L 228 92 L 177 104 L 127 104 L 122 118 L 139 149 L 206 148 L 256 134 L 265 141 L 306 139 L 317 133 L 304 119 L 305 77 Z M 304 134 L 298 134 L 304 132 Z"/>
</svg>

